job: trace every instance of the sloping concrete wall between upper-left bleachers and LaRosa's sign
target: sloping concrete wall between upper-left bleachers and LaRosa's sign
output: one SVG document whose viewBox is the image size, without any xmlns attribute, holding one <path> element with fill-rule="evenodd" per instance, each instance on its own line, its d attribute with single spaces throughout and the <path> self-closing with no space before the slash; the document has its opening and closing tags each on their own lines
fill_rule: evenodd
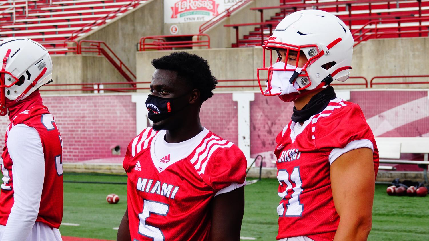
<svg viewBox="0 0 429 241">
<path fill-rule="evenodd" d="M 101 40 L 136 72 L 136 44 L 142 36 L 163 34 L 163 1 L 148 0 L 77 40 Z M 102 69 L 100 69 L 102 70 Z"/>
</svg>

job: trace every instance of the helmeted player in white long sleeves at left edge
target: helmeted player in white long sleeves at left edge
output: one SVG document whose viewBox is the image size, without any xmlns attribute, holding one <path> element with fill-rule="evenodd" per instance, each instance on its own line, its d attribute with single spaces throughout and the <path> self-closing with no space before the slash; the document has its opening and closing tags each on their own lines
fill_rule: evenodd
<svg viewBox="0 0 429 241">
<path fill-rule="evenodd" d="M 63 147 L 38 90 L 52 81 L 51 57 L 18 37 L 0 42 L 0 56 L 0 115 L 11 122 L 0 162 L 0 241 L 59 241 Z"/>
</svg>

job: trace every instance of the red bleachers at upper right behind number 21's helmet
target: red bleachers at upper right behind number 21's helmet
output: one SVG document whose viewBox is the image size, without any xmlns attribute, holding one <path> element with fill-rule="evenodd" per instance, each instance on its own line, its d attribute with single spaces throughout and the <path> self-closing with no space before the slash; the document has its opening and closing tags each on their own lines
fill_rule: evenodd
<svg viewBox="0 0 429 241">
<path fill-rule="evenodd" d="M 277 25 L 276 23 L 281 21 L 281 19 L 283 19 L 285 15 L 302 9 L 320 9 L 326 12 L 331 12 L 332 14 L 341 18 L 350 27 L 352 33 L 362 27 L 365 27 L 366 29 L 374 28 L 375 24 L 367 24 L 369 23 L 369 21 L 388 19 L 400 20 L 401 18 L 424 17 L 429 15 L 428 0 L 281 0 L 280 3 L 281 5 L 279 6 L 252 8 L 252 10 L 260 12 L 261 22 L 250 23 L 251 25 L 256 25 L 257 27 L 254 28 L 254 31 L 245 34 L 242 39 L 237 38 L 238 45 L 236 42 L 232 44 L 232 47 L 234 48 L 260 46 L 263 40 L 268 39 L 272 29 L 274 29 Z M 263 12 L 267 9 L 278 9 L 279 12 L 277 12 L 274 16 L 271 16 L 268 20 L 263 21 Z M 236 35 L 239 36 L 238 30 L 239 26 L 241 26 L 240 24 L 244 23 L 228 24 L 226 27 L 236 28 Z M 378 27 L 396 27 L 397 29 L 398 27 L 408 27 L 408 30 L 428 30 L 426 26 L 427 24 L 427 20 L 426 22 L 422 22 L 419 20 L 414 22 L 408 21 L 404 25 L 401 25 L 399 21 L 399 23 L 389 22 L 386 24 L 378 24 Z M 398 29 L 398 31 L 400 31 L 400 29 Z M 427 33 L 425 33 L 424 31 L 420 33 L 413 32 L 412 34 L 402 36 L 427 36 Z M 401 35 L 391 34 L 384 35 L 383 37 L 401 37 Z"/>
</svg>

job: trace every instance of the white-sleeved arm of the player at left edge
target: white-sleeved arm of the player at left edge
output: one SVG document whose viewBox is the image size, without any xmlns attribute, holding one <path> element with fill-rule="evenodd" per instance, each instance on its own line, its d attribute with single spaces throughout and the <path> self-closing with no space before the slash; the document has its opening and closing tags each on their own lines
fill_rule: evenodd
<svg viewBox="0 0 429 241">
<path fill-rule="evenodd" d="M 6 145 L 13 161 L 14 203 L 2 241 L 24 241 L 39 214 L 45 179 L 45 155 L 37 131 L 24 124 L 16 125 L 9 131 Z"/>
</svg>

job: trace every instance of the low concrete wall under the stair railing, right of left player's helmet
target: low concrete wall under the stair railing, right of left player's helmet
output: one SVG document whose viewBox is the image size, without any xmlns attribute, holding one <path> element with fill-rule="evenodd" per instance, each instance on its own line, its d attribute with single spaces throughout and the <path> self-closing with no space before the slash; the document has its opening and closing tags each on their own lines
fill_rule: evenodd
<svg viewBox="0 0 429 241">
<path fill-rule="evenodd" d="M 124 82 L 124 77 L 103 56 L 52 55 L 52 84 Z M 114 85 L 129 87 L 129 85 Z M 89 85 L 89 87 L 92 87 Z M 106 88 L 108 86 L 105 86 Z M 82 86 L 51 86 L 40 90 L 49 94 L 77 94 L 82 91 L 47 91 L 49 89 L 82 89 Z"/>
</svg>

